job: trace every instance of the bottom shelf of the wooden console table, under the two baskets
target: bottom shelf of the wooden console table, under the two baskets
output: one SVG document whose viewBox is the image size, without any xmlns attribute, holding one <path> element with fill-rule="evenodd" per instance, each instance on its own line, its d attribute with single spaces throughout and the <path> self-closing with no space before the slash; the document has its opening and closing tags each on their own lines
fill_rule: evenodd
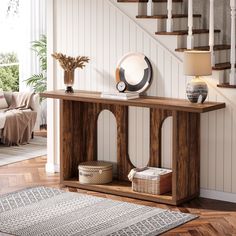
<svg viewBox="0 0 236 236">
<path fill-rule="evenodd" d="M 90 191 L 114 194 L 124 197 L 131 197 L 140 200 L 153 201 L 158 203 L 176 205 L 176 202 L 173 200 L 171 193 L 163 195 L 153 195 L 147 193 L 134 192 L 131 188 L 131 183 L 126 181 L 117 181 L 114 180 L 112 183 L 104 185 L 90 185 L 90 184 L 80 184 L 79 181 L 75 179 L 64 180 L 62 184 L 68 187 L 80 188 Z"/>
</svg>

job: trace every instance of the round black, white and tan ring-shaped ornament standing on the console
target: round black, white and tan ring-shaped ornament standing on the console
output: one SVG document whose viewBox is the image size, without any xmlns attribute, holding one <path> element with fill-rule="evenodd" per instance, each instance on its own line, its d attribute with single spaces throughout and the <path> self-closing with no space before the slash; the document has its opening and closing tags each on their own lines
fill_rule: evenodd
<svg viewBox="0 0 236 236">
<path fill-rule="evenodd" d="M 128 53 L 118 63 L 116 81 L 123 81 L 128 92 L 144 92 L 152 81 L 152 66 L 142 53 Z"/>
</svg>

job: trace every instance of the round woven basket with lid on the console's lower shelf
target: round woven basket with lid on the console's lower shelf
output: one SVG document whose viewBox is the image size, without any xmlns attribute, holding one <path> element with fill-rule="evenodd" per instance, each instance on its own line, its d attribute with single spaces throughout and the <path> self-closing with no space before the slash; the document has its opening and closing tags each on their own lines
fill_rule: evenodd
<svg viewBox="0 0 236 236">
<path fill-rule="evenodd" d="M 81 184 L 107 184 L 112 182 L 112 164 L 105 161 L 80 163 L 79 182 Z"/>
</svg>

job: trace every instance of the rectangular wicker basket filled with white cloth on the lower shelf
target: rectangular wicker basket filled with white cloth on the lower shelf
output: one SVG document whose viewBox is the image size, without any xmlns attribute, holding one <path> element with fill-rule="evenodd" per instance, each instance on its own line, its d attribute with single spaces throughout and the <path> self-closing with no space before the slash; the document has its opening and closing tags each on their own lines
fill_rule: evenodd
<svg viewBox="0 0 236 236">
<path fill-rule="evenodd" d="M 172 171 L 168 169 L 148 167 L 136 172 L 132 179 L 132 189 L 135 192 L 164 194 L 171 191 Z"/>
</svg>

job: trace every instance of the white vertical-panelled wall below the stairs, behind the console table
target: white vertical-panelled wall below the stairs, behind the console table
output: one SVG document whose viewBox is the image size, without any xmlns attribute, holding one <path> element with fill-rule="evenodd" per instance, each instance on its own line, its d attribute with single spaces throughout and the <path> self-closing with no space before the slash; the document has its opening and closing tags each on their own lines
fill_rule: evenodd
<svg viewBox="0 0 236 236">
<path fill-rule="evenodd" d="M 84 70 L 76 71 L 75 88 L 114 90 L 117 61 L 127 52 L 138 51 L 153 65 L 153 83 L 148 94 L 185 98 L 182 62 L 108 0 L 54 0 L 52 10 L 54 23 L 48 39 L 53 40 L 53 46 L 49 54 L 57 51 L 91 58 Z M 58 64 L 51 76 L 55 79 L 54 88 L 63 88 Z M 201 116 L 201 188 L 236 193 L 236 107 L 213 87 L 209 99 L 226 102 L 227 108 Z M 109 112 L 100 116 L 99 159 L 116 159 L 114 125 Z M 166 120 L 162 137 L 163 163 L 171 167 L 171 119 Z M 129 154 L 135 165 L 146 165 L 148 145 L 149 110 L 130 108 Z"/>
</svg>

